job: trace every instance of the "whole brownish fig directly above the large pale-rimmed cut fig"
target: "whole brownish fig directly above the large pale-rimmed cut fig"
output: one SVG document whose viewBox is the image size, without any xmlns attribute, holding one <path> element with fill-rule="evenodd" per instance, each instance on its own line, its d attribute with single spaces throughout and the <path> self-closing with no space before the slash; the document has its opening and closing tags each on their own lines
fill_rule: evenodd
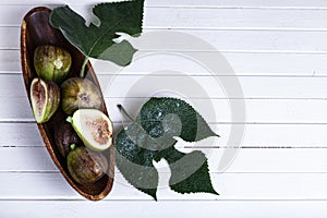
<svg viewBox="0 0 327 218">
<path fill-rule="evenodd" d="M 66 114 L 72 114 L 81 108 L 99 109 L 102 97 L 96 85 L 81 77 L 71 77 L 61 84 L 61 108 Z"/>
</svg>

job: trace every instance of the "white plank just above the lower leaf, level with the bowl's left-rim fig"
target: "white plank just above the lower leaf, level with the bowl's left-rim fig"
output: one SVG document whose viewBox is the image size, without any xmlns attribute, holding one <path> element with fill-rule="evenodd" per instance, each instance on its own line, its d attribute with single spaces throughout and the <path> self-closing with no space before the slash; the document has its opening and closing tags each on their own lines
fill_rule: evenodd
<svg viewBox="0 0 327 218">
<path fill-rule="evenodd" d="M 166 71 L 170 72 L 170 71 Z M 165 73 L 165 72 L 164 72 Z M 194 72 L 195 73 L 195 72 Z M 208 73 L 208 72 L 207 72 Z M 185 98 L 203 99 L 305 99 L 325 100 L 327 77 L 319 76 L 213 76 L 208 74 L 186 74 L 154 72 L 148 74 L 98 74 L 98 80 L 106 98 L 148 98 L 166 89 L 180 93 Z M 240 83 L 242 93 L 228 95 L 225 88 L 235 87 Z M 158 82 L 161 85 L 156 85 Z M 14 85 L 13 85 L 14 84 Z M 140 87 L 147 84 L 146 87 Z M 181 85 L 182 84 L 182 85 Z M 134 92 L 132 92 L 134 90 Z M 196 90 L 196 92 L 195 92 Z M 168 95 L 168 94 L 167 94 Z M 21 74 L 0 74 L 0 98 L 19 98 L 24 101 L 27 93 Z M 119 99 L 122 100 L 122 99 Z"/>
</svg>

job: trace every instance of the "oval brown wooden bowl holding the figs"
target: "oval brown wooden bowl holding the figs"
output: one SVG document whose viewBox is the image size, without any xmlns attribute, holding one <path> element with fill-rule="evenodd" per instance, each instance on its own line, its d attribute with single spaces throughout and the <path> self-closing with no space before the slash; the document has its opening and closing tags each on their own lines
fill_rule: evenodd
<svg viewBox="0 0 327 218">
<path fill-rule="evenodd" d="M 29 85 L 32 80 L 37 76 L 34 64 L 33 56 L 34 50 L 39 45 L 53 45 L 65 48 L 72 55 L 72 68 L 69 77 L 78 76 L 80 69 L 84 61 L 84 55 L 81 53 L 75 47 L 73 47 L 61 34 L 60 31 L 53 28 L 49 24 L 49 15 L 51 10 L 45 7 L 38 7 L 32 9 L 22 22 L 21 28 L 21 61 L 24 83 L 29 98 Z M 86 66 L 87 78 L 93 81 L 100 90 L 100 86 L 96 74 L 92 68 L 90 62 Z M 102 94 L 101 94 L 102 95 Z M 104 99 L 104 98 L 102 98 Z M 108 116 L 105 100 L 102 100 L 101 110 Z M 69 184 L 75 189 L 82 196 L 92 201 L 99 201 L 108 195 L 111 191 L 113 183 L 114 171 L 114 148 L 111 146 L 104 152 L 107 157 L 109 170 L 105 177 L 92 185 L 82 185 L 76 183 L 70 175 L 66 167 L 66 159 L 63 158 L 55 143 L 53 132 L 59 128 L 60 123 L 65 122 L 66 114 L 61 109 L 58 109 L 55 116 L 44 124 L 37 124 L 40 135 L 46 144 L 46 147 Z"/>
</svg>

